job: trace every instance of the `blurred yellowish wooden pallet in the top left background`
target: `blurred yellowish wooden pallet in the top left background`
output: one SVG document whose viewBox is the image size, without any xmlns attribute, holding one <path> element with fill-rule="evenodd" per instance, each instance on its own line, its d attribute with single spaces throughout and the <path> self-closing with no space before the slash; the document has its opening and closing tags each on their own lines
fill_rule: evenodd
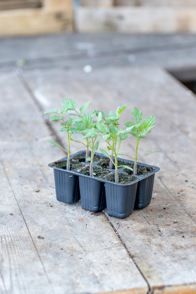
<svg viewBox="0 0 196 294">
<path fill-rule="evenodd" d="M 0 36 L 73 30 L 72 0 L 0 1 L 0 10 Z"/>
</svg>

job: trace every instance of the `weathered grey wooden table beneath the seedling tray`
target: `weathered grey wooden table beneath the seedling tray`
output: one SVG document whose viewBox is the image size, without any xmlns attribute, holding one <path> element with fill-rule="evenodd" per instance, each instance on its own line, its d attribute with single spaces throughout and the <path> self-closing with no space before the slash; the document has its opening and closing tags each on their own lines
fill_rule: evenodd
<svg viewBox="0 0 196 294">
<path fill-rule="evenodd" d="M 113 64 L 114 35 L 107 40 L 91 36 L 94 51 L 105 47 L 101 54 L 108 54 L 108 59 L 103 56 L 107 66 L 98 57 L 79 53 L 85 50 L 76 45 L 92 45 L 87 45 L 90 36 L 84 37 L 83 44 L 77 37 L 82 39 L 81 35 L 45 37 L 53 48 L 61 47 L 57 40 L 64 40 L 64 55 L 59 56 L 63 49 L 52 52 L 51 47 L 43 47 L 48 59 L 38 49 L 37 55 L 32 48 L 22 51 L 23 69 L 14 69 L 19 50 L 11 57 L 11 50 L 5 48 L 4 60 L 1 55 L 0 293 L 196 293 L 196 96 L 161 65 Z M 133 43 L 128 46 L 127 36 L 117 37 L 131 50 Z M 185 38 L 187 44 L 194 43 L 194 37 Z M 28 39 L 20 38 L 0 43 L 20 47 L 20 40 L 30 46 Z M 32 38 L 31 44 L 33 40 L 40 44 L 42 39 Z M 119 55 L 126 57 L 123 49 Z M 93 70 L 85 73 L 83 66 L 92 60 Z M 97 214 L 83 210 L 80 202 L 56 201 L 47 164 L 64 153 L 46 139 L 58 137 L 65 146 L 66 141 L 43 112 L 60 107 L 67 97 L 78 105 L 90 101 L 90 109 L 106 112 L 129 103 L 122 123 L 129 120 L 134 106 L 144 116 L 156 114 L 155 128 L 140 145 L 141 154 L 162 150 L 143 160 L 161 168 L 147 208 L 118 219 L 108 216 L 107 210 Z M 129 140 L 123 150 L 131 153 L 133 147 Z"/>
</svg>

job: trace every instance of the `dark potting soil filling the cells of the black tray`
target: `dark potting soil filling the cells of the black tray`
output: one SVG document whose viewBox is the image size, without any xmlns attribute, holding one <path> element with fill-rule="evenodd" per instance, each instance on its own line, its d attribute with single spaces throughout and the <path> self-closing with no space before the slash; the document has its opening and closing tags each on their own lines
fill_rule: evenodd
<svg viewBox="0 0 196 294">
<path fill-rule="evenodd" d="M 81 174 L 89 176 L 89 163 L 86 165 L 85 161 L 85 153 L 75 155 L 73 158 L 70 159 L 70 170 L 75 172 L 80 172 Z M 97 161 L 97 162 L 96 162 Z M 99 156 L 94 157 L 94 163 L 98 167 L 93 167 L 93 176 L 102 180 L 107 180 L 110 182 L 115 182 L 115 171 L 114 165 L 113 169 L 109 169 L 109 159 L 101 158 Z M 130 162 L 126 162 L 123 160 L 118 161 L 118 165 L 128 165 L 133 168 L 133 164 Z M 67 169 L 67 160 L 62 161 L 55 161 L 53 166 L 59 167 L 62 169 Z M 153 167 L 151 166 L 141 166 L 137 165 L 137 174 L 136 175 L 147 175 L 154 171 Z M 133 175 L 133 171 L 129 170 L 128 168 L 119 167 L 119 183 L 120 184 L 128 184 L 136 180 L 136 177 Z"/>
</svg>

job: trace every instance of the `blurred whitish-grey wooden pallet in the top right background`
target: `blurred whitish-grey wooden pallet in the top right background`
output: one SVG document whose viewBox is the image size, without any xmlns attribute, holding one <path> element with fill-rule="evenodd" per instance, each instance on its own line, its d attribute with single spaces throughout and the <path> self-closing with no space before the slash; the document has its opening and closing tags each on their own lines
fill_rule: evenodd
<svg viewBox="0 0 196 294">
<path fill-rule="evenodd" d="M 79 32 L 196 32 L 195 0 L 80 0 Z"/>
</svg>

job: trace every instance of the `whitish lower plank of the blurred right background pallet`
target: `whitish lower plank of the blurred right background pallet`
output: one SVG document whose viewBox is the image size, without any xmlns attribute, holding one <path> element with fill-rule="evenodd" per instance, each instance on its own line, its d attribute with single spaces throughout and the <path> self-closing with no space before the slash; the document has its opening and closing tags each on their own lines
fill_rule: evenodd
<svg viewBox="0 0 196 294">
<path fill-rule="evenodd" d="M 196 7 L 76 7 L 79 32 L 196 32 Z"/>
</svg>

